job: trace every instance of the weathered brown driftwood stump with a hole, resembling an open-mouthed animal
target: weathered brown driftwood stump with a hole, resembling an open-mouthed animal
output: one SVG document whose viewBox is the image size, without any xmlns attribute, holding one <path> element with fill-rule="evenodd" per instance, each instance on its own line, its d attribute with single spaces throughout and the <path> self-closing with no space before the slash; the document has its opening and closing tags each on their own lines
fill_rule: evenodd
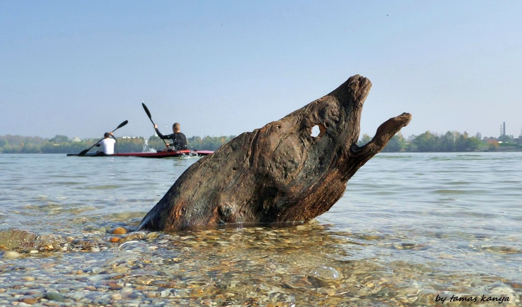
<svg viewBox="0 0 522 307">
<path fill-rule="evenodd" d="M 328 211 L 348 179 L 411 120 L 408 113 L 388 119 L 359 147 L 362 106 L 371 85 L 362 76 L 350 77 L 328 95 L 201 158 L 138 229 L 294 224 Z"/>
</svg>

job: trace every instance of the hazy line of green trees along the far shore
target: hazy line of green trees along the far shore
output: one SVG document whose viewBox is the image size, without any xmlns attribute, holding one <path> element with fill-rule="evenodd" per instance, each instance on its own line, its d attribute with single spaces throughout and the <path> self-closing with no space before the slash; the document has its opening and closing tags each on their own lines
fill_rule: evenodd
<svg viewBox="0 0 522 307">
<path fill-rule="evenodd" d="M 234 136 L 209 137 L 203 139 L 194 136 L 187 138 L 189 149 L 217 150 Z M 372 139 L 363 134 L 358 142 L 362 146 Z M 51 139 L 41 137 L 22 137 L 7 134 L 0 136 L 0 153 L 77 153 L 98 142 L 100 139 L 69 139 L 67 136 L 57 135 Z M 115 146 L 116 152 L 143 152 L 162 149 L 163 141 L 157 136 L 147 140 L 143 137 L 118 137 Z M 91 151 L 95 151 L 94 147 Z M 405 138 L 401 133 L 396 134 L 386 145 L 383 152 L 479 152 L 479 151 L 522 151 L 522 137 L 513 136 L 470 137 L 468 133 L 448 131 L 437 134 L 426 131 L 418 136 Z"/>
</svg>

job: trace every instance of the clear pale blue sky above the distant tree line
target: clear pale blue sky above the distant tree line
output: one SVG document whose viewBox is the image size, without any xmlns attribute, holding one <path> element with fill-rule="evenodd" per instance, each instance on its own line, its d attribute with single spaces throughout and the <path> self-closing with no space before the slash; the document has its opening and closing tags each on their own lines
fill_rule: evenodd
<svg viewBox="0 0 522 307">
<path fill-rule="evenodd" d="M 0 1 L 0 136 L 239 135 L 350 76 L 361 137 L 518 137 L 521 1 Z"/>
</svg>

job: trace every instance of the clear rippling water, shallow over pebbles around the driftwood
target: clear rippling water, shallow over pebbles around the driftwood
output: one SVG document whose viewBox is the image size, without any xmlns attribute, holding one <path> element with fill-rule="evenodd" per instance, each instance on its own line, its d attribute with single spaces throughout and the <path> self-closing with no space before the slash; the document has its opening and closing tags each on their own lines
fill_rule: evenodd
<svg viewBox="0 0 522 307">
<path fill-rule="evenodd" d="M 195 161 L 0 155 L 0 305 L 521 304 L 521 153 L 378 154 L 297 227 L 112 234 Z"/>
</svg>

